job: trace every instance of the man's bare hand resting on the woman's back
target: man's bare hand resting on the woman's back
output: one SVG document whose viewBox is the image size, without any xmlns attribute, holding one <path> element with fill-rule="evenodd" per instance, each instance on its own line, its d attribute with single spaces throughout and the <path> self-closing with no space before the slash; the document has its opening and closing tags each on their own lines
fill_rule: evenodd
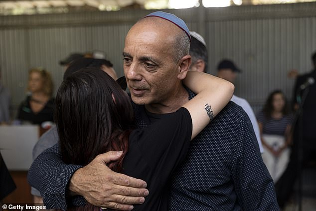
<svg viewBox="0 0 316 211">
<path fill-rule="evenodd" d="M 69 182 L 70 195 L 81 195 L 90 204 L 129 211 L 134 204 L 143 204 L 149 192 L 147 183 L 113 172 L 106 164 L 122 153 L 110 151 L 98 155 L 90 164 L 78 169 Z"/>
</svg>

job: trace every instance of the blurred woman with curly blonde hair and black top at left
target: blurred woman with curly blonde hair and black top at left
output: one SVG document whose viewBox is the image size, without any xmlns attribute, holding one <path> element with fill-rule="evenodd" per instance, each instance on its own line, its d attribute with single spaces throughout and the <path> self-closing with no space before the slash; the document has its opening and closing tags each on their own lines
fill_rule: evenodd
<svg viewBox="0 0 316 211">
<path fill-rule="evenodd" d="M 43 122 L 53 122 L 54 98 L 50 73 L 42 68 L 30 69 L 27 91 L 29 94 L 20 104 L 16 118 L 22 123 L 38 125 Z"/>
</svg>

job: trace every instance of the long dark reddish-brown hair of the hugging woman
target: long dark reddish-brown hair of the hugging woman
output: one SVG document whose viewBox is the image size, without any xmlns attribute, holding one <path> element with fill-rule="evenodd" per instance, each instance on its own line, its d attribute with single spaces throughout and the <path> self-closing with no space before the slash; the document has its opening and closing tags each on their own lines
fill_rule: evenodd
<svg viewBox="0 0 316 211">
<path fill-rule="evenodd" d="M 85 166 L 101 153 L 123 151 L 118 161 L 108 165 L 122 172 L 134 113 L 119 84 L 101 69 L 83 68 L 62 82 L 55 103 L 62 160 Z M 99 210 L 90 204 L 70 208 L 86 209 Z"/>
</svg>

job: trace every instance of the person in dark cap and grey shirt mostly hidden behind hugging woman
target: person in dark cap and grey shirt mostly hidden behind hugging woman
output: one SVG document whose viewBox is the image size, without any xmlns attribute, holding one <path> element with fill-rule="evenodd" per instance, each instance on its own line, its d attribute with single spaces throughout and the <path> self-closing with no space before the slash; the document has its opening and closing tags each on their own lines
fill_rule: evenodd
<svg viewBox="0 0 316 211">
<path fill-rule="evenodd" d="M 68 76 L 73 74 L 74 72 L 85 68 L 85 67 L 95 67 L 100 68 L 104 72 L 108 73 L 113 79 L 117 79 L 115 70 L 113 69 L 113 64 L 106 59 L 94 59 L 89 57 L 81 57 L 75 59 L 66 69 L 63 79 L 66 79 Z M 120 80 L 121 81 L 121 80 Z M 126 80 L 123 79 L 125 82 L 126 88 Z M 35 146 L 33 147 L 32 157 L 33 160 L 41 154 L 44 150 L 54 146 L 58 142 L 58 134 L 56 126 L 53 126 L 47 132 L 45 132 L 39 140 L 36 142 Z M 34 203 L 43 203 L 43 199 L 38 190 L 34 187 L 31 187 L 31 194 L 33 195 Z"/>
</svg>

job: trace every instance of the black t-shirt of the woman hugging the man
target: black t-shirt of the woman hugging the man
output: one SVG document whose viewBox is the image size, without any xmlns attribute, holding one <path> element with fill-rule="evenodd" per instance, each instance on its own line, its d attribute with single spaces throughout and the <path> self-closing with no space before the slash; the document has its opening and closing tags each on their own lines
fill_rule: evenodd
<svg viewBox="0 0 316 211">
<path fill-rule="evenodd" d="M 134 130 L 124 159 L 124 173 L 147 182 L 149 196 L 133 211 L 167 210 L 168 178 L 184 160 L 192 135 L 192 119 L 180 108 L 146 128 Z"/>
</svg>

